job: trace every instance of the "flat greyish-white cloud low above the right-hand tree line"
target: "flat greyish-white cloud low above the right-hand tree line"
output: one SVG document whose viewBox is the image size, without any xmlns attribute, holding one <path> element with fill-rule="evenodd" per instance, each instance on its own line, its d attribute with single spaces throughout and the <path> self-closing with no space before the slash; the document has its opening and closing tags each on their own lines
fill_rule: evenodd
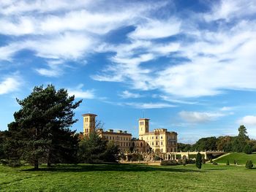
<svg viewBox="0 0 256 192">
<path fill-rule="evenodd" d="M 221 112 L 188 112 L 181 111 L 178 115 L 189 123 L 206 123 L 211 120 L 223 117 L 226 114 Z"/>
</svg>

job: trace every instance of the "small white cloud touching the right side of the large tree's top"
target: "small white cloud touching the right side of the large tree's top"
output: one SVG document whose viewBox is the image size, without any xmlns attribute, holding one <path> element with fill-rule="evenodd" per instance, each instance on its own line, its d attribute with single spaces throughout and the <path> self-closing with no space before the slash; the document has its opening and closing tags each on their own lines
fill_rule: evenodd
<svg viewBox="0 0 256 192">
<path fill-rule="evenodd" d="M 68 88 L 69 96 L 75 95 L 75 98 L 80 99 L 94 99 L 94 90 L 83 91 L 83 84 L 78 85 L 76 88 Z"/>
</svg>

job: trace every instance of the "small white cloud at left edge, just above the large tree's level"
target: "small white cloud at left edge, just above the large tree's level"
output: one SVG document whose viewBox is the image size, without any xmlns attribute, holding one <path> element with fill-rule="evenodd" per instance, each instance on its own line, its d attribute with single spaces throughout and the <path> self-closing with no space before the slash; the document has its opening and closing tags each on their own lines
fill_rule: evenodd
<svg viewBox="0 0 256 192">
<path fill-rule="evenodd" d="M 18 76 L 10 76 L 4 78 L 0 82 L 0 95 L 17 91 L 20 88 L 21 80 Z"/>
</svg>

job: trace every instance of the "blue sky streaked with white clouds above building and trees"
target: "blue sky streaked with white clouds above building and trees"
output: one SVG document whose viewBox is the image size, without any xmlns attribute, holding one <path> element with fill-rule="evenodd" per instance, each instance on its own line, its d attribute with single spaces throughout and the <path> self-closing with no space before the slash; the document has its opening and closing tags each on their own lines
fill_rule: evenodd
<svg viewBox="0 0 256 192">
<path fill-rule="evenodd" d="M 0 130 L 34 86 L 65 88 L 78 123 L 150 129 L 178 142 L 256 139 L 256 1 L 0 1 Z"/>
</svg>

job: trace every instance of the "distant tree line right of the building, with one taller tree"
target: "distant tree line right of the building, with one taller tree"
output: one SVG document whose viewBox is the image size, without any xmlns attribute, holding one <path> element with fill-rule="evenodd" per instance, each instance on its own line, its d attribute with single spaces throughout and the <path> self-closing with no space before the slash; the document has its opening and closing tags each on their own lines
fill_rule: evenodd
<svg viewBox="0 0 256 192">
<path fill-rule="evenodd" d="M 238 136 L 221 136 L 201 138 L 195 144 L 178 143 L 178 151 L 219 150 L 228 152 L 256 152 L 256 140 L 249 139 L 244 125 L 238 128 Z"/>
</svg>

